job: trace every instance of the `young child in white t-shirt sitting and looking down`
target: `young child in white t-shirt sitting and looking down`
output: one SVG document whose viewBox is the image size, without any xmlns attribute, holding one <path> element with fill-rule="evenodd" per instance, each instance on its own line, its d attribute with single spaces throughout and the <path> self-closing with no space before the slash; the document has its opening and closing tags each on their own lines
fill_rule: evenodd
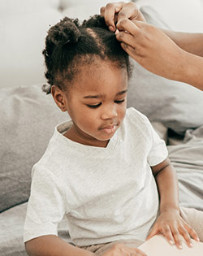
<svg viewBox="0 0 203 256">
<path fill-rule="evenodd" d="M 164 141 L 145 115 L 126 110 L 131 66 L 103 18 L 82 25 L 64 18 L 50 28 L 43 54 L 44 90 L 71 121 L 55 128 L 32 168 L 28 254 L 145 255 L 137 241 L 158 232 L 179 247 L 180 234 L 188 245 L 190 236 L 198 240 L 180 216 Z M 188 218 L 188 210 L 181 213 Z M 76 246 L 57 236 L 63 215 Z"/>
</svg>

